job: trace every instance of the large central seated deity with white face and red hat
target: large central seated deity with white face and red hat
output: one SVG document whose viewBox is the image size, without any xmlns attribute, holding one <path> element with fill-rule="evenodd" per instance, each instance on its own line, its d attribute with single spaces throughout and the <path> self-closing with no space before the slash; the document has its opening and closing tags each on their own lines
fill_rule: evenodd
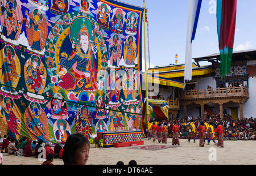
<svg viewBox="0 0 256 176">
<path fill-rule="evenodd" d="M 60 59 L 59 86 L 66 90 L 94 91 L 97 90 L 97 71 L 95 46 L 90 44 L 88 29 L 83 26 L 78 34 L 79 44 L 72 44 L 72 53 L 62 53 L 65 57 Z"/>
</svg>

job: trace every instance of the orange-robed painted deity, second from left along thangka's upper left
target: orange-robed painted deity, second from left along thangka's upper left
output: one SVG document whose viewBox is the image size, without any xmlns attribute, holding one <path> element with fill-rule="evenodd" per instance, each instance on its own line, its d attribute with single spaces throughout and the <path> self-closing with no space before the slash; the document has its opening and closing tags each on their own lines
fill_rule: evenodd
<svg viewBox="0 0 256 176">
<path fill-rule="evenodd" d="M 46 32 L 43 28 L 43 14 L 39 9 L 35 9 L 32 12 L 32 18 L 28 15 L 28 11 L 26 10 L 25 15 L 27 16 L 27 24 L 26 27 L 28 29 L 32 29 L 32 45 L 31 49 L 36 51 L 42 51 L 43 47 L 46 43 L 44 39 L 44 33 Z"/>
</svg>

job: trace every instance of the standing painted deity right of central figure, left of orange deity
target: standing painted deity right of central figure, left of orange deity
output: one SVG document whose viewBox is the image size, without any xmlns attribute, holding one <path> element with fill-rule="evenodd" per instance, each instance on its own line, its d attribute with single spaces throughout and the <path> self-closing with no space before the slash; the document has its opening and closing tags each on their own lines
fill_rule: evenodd
<svg viewBox="0 0 256 176">
<path fill-rule="evenodd" d="M 109 59 L 110 64 L 114 67 L 119 67 L 119 62 L 122 54 L 122 45 L 118 35 L 113 36 L 113 42 L 109 42 Z"/>
</svg>

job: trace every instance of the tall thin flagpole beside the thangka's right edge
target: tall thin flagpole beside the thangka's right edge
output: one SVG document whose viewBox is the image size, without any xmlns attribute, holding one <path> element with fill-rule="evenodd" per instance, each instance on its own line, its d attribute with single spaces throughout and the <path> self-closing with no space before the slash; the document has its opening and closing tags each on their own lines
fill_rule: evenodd
<svg viewBox="0 0 256 176">
<path fill-rule="evenodd" d="M 147 90 L 147 53 L 146 53 L 146 7 L 145 0 L 143 0 L 144 16 L 144 62 L 145 62 L 145 78 L 146 78 L 146 119 L 148 117 L 148 90 Z"/>
</svg>

